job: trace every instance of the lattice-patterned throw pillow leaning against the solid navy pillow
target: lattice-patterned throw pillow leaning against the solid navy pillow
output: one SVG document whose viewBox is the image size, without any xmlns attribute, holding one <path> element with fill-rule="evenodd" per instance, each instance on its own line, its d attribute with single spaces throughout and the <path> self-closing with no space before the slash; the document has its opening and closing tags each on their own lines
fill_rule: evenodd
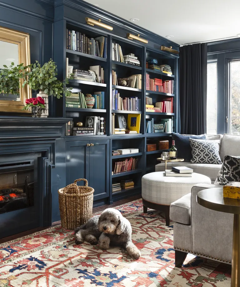
<svg viewBox="0 0 240 287">
<path fill-rule="evenodd" d="M 219 156 L 220 141 L 204 141 L 189 139 L 192 148 L 191 163 L 221 164 Z"/>
</svg>

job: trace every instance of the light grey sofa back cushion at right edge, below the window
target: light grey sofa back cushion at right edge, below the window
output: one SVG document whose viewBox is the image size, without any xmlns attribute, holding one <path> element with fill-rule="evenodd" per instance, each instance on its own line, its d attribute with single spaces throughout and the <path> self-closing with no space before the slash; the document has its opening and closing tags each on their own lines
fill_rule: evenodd
<svg viewBox="0 0 240 287">
<path fill-rule="evenodd" d="M 223 161 L 224 156 L 240 156 L 240 136 L 224 134 L 220 149 L 220 158 Z"/>
</svg>

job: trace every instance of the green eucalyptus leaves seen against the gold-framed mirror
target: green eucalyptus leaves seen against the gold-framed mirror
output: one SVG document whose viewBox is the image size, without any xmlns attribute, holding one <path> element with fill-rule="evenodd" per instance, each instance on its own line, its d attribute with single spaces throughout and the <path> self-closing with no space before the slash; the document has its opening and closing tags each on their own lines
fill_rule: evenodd
<svg viewBox="0 0 240 287">
<path fill-rule="evenodd" d="M 23 84 L 27 84 L 27 76 L 31 73 L 30 68 L 31 65 L 24 66 L 23 64 L 19 64 L 17 66 L 12 62 L 8 67 L 3 65 L 4 69 L 0 69 L 0 93 L 4 94 L 20 94 L 20 81 L 19 79 L 23 79 Z"/>
</svg>

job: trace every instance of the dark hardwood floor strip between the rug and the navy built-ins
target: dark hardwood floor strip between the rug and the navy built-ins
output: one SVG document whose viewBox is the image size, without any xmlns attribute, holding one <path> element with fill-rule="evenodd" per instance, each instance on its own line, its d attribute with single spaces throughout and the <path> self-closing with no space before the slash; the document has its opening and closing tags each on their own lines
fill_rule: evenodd
<svg viewBox="0 0 240 287">
<path fill-rule="evenodd" d="M 102 211 L 102 210 L 104 210 L 106 208 L 116 207 L 118 205 L 122 205 L 122 204 L 125 204 L 125 203 L 128 203 L 128 202 L 131 202 L 133 200 L 139 199 L 139 198 L 141 198 L 141 195 L 136 195 L 136 196 L 133 196 L 133 197 L 125 198 L 125 199 L 116 201 L 116 202 L 114 202 L 111 205 L 106 204 L 106 205 L 103 205 L 103 206 L 99 206 L 99 207 L 93 208 L 93 213 L 98 213 L 98 212 L 100 212 L 100 211 Z M 26 236 L 26 235 L 29 235 L 29 234 L 32 234 L 32 233 L 35 233 L 37 231 L 41 231 L 41 230 L 47 229 L 49 227 L 56 226 L 58 224 L 61 224 L 60 220 L 56 221 L 56 222 L 53 222 L 52 226 L 33 228 L 33 229 L 30 229 L 30 230 L 27 230 L 27 231 L 24 231 L 24 232 L 21 232 L 21 233 L 17 233 L 17 234 L 8 236 L 8 237 L 0 238 L 0 244 L 4 243 L 4 242 L 8 242 L 10 240 L 14 240 L 14 239 Z"/>
</svg>

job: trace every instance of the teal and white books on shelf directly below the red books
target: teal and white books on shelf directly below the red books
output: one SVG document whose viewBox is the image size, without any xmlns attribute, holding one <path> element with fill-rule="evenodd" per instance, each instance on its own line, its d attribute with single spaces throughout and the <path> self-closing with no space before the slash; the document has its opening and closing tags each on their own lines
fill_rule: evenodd
<svg viewBox="0 0 240 287">
<path fill-rule="evenodd" d="M 146 119 L 146 133 L 173 132 L 173 117 L 171 119 L 161 119 L 158 124 L 154 124 L 154 119 Z"/>
</svg>

